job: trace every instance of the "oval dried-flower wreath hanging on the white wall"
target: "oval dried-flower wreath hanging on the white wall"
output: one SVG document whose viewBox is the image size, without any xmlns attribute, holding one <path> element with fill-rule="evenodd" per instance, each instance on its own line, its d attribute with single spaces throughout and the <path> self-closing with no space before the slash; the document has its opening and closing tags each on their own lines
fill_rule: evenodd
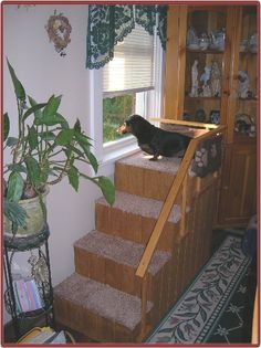
<svg viewBox="0 0 261 348">
<path fill-rule="evenodd" d="M 71 42 L 70 34 L 72 32 L 72 27 L 69 23 L 69 19 L 63 15 L 63 13 L 51 15 L 45 25 L 50 41 L 54 43 L 55 51 L 60 53 L 61 56 L 65 56 L 65 48 Z"/>
</svg>

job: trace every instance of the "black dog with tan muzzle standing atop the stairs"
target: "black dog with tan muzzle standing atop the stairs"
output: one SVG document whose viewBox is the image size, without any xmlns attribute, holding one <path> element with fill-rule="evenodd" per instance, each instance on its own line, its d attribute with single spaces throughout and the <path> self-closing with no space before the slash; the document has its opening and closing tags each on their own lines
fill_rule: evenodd
<svg viewBox="0 0 261 348">
<path fill-rule="evenodd" d="M 117 129 L 119 134 L 132 133 L 138 140 L 140 149 L 157 160 L 158 156 L 174 157 L 186 150 L 191 138 L 179 133 L 155 127 L 139 115 L 129 116 Z"/>
</svg>

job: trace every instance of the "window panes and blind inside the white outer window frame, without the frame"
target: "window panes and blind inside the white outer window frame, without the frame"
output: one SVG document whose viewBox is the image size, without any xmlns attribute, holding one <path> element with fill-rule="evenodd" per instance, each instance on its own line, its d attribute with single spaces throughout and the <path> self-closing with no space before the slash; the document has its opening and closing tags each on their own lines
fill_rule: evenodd
<svg viewBox="0 0 261 348">
<path fill-rule="evenodd" d="M 117 140 L 115 129 L 127 116 L 146 116 L 148 91 L 155 86 L 156 35 L 140 25 L 114 49 L 114 59 L 103 68 L 103 143 Z"/>
</svg>

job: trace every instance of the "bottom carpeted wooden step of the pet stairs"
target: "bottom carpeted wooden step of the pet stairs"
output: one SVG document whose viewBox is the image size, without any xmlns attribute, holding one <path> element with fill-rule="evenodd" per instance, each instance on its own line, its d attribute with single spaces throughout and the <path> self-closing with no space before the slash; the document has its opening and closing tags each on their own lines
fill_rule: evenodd
<svg viewBox="0 0 261 348">
<path fill-rule="evenodd" d="M 54 309 L 58 323 L 98 341 L 134 341 L 139 331 L 138 297 L 76 273 L 54 287 Z"/>
</svg>

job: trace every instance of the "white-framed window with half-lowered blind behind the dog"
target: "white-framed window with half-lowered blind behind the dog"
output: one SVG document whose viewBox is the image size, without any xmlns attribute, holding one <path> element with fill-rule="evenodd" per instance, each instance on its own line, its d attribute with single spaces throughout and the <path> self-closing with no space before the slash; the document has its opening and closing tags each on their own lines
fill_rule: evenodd
<svg viewBox="0 0 261 348">
<path fill-rule="evenodd" d="M 116 133 L 127 116 L 137 113 L 145 118 L 160 117 L 163 65 L 158 35 L 149 35 L 136 24 L 115 46 L 114 59 L 103 68 L 90 72 L 90 92 L 96 101 L 91 113 L 95 112 L 93 136 L 98 159 L 115 148 L 135 144 L 133 136 Z"/>
</svg>

